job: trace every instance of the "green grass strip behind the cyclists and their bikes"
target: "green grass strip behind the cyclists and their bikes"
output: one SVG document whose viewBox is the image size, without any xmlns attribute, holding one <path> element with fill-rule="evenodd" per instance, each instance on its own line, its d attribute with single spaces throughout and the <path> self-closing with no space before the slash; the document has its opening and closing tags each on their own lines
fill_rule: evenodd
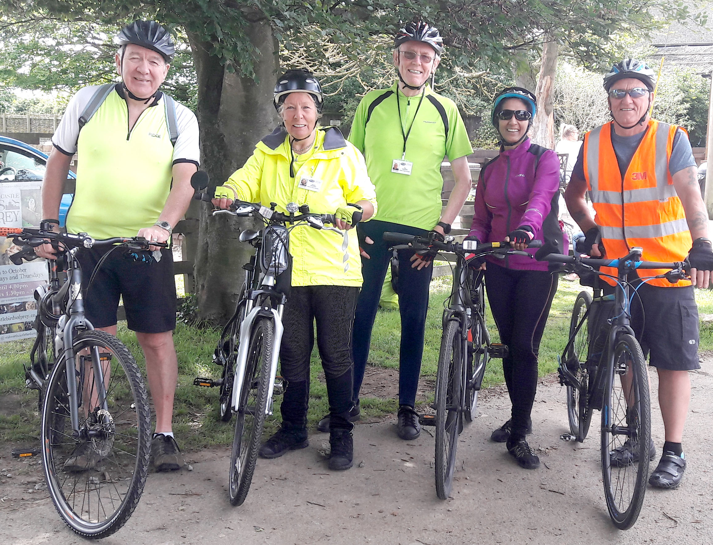
<svg viewBox="0 0 713 545">
<path fill-rule="evenodd" d="M 578 282 L 560 280 L 560 286 L 548 319 L 545 335 L 540 345 L 540 375 L 557 368 L 557 356 L 567 342 L 570 313 L 578 292 L 583 288 Z M 438 351 L 441 342 L 441 315 L 444 301 L 451 292 L 450 277 L 436 278 L 431 282 L 431 298 L 426 318 L 426 343 L 421 375 L 435 377 Z M 713 291 L 697 290 L 699 312 L 713 314 Z M 488 311 L 488 330 L 493 342 L 498 332 Z M 713 350 L 713 322 L 701 323 L 701 350 Z M 219 332 L 217 330 L 189 327 L 179 323 L 175 330 L 175 345 L 178 352 L 178 388 L 175 395 L 174 431 L 184 448 L 197 449 L 232 442 L 234 421 L 220 422 L 217 412 L 218 389 L 193 386 L 196 376 L 220 377 L 220 369 L 212 364 Z M 120 322 L 118 337 L 129 347 L 145 376 L 145 362 L 133 332 Z M 369 361 L 379 367 L 399 367 L 399 343 L 401 324 L 397 310 L 380 310 L 376 315 L 371 338 Z M 28 391 L 24 384 L 23 363 L 29 362 L 33 340 L 20 340 L 0 344 L 0 441 L 36 442 L 39 439 L 39 414 L 37 392 Z M 315 348 L 312 354 L 312 386 L 309 402 L 309 424 L 327 413 L 327 387 L 319 380 L 322 364 Z M 393 377 L 396 381 L 398 378 Z M 486 370 L 484 385 L 503 382 L 501 360 L 491 360 Z M 275 396 L 275 415 L 267 422 L 266 433 L 272 432 L 279 422 L 281 396 Z M 361 409 L 367 417 L 396 412 L 395 399 L 376 397 L 362 398 Z M 326 437 L 326 436 L 325 436 Z M 325 439 L 326 440 L 326 439 Z"/>
</svg>

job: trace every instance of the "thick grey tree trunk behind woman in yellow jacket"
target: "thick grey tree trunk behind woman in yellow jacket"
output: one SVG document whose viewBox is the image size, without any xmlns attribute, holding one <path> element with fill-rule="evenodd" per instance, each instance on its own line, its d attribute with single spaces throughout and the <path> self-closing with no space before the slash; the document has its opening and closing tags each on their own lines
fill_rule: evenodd
<svg viewBox="0 0 713 545">
<path fill-rule="evenodd" d="M 260 138 L 277 124 L 272 106 L 272 90 L 279 70 L 277 40 L 270 20 L 260 12 L 250 19 L 250 42 L 259 51 L 256 78 L 240 77 L 210 54 L 211 44 L 188 34 L 195 70 L 198 74 L 198 123 L 200 124 L 201 168 L 210 175 L 211 185 L 222 185 L 240 168 Z M 240 243 L 240 230 L 257 228 L 250 218 L 210 214 L 210 206 L 194 201 L 189 215 L 200 218 L 195 259 L 195 292 L 202 320 L 225 324 L 233 312 L 237 294 L 245 280 L 242 265 L 253 248 Z"/>
</svg>

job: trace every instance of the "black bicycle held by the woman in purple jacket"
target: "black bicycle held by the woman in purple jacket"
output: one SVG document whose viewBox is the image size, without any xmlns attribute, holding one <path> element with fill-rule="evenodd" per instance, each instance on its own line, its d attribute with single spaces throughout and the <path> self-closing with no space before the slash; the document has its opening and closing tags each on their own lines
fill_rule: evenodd
<svg viewBox="0 0 713 545">
<path fill-rule="evenodd" d="M 463 421 L 472 422 L 478 405 L 478 392 L 483 384 L 486 365 L 491 357 L 505 357 L 507 347 L 493 343 L 486 328 L 485 286 L 483 271 L 474 270 L 469 263 L 496 255 L 525 255 L 530 253 L 511 248 L 510 243 L 485 243 L 476 246 L 475 240 L 456 243 L 453 237 L 444 242 L 429 237 L 384 233 L 387 242 L 399 243 L 396 250 L 411 249 L 423 252 L 429 248 L 456 255 L 453 268 L 453 287 L 448 306 L 443 310 L 443 335 L 438 354 L 436 395 L 433 408 L 436 417 L 421 416 L 424 425 L 436 427 L 436 494 L 447 499 L 453 487 L 456 468 L 458 435 Z M 540 240 L 530 242 L 539 248 Z"/>
</svg>

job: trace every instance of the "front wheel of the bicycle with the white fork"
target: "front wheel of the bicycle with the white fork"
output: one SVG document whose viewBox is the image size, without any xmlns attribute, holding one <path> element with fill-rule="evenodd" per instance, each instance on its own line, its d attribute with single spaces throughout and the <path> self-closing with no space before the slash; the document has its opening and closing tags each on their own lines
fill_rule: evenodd
<svg viewBox="0 0 713 545">
<path fill-rule="evenodd" d="M 260 448 L 262 427 L 265 424 L 274 337 L 275 324 L 272 319 L 258 317 L 250 335 L 245 380 L 235 413 L 235 437 L 230 453 L 228 481 L 228 494 L 233 505 L 242 505 L 245 501 L 255 472 L 257 449 Z"/>
</svg>

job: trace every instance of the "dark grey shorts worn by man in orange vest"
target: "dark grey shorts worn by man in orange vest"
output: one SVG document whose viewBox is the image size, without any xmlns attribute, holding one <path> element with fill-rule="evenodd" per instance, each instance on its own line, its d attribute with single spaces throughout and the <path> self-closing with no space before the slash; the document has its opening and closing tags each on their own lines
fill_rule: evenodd
<svg viewBox="0 0 713 545">
<path fill-rule="evenodd" d="M 614 290 L 607 285 L 605 293 Z M 631 304 L 631 326 L 644 356 L 649 357 L 649 365 L 672 371 L 700 369 L 698 306 L 693 286 L 643 284 L 637 293 L 639 297 L 634 295 Z"/>
</svg>

